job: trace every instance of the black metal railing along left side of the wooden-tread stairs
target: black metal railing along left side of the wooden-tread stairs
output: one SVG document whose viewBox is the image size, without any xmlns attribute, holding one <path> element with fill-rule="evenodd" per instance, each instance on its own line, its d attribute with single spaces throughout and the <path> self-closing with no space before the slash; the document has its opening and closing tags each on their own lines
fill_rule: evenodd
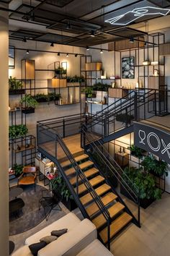
<svg viewBox="0 0 170 256">
<path fill-rule="evenodd" d="M 49 127 L 48 124 L 39 123 L 37 124 L 37 146 L 38 146 L 38 150 L 42 154 L 46 155 L 51 161 L 53 161 L 58 166 L 58 170 L 63 176 L 63 179 L 65 180 L 68 186 L 68 189 L 73 195 L 73 198 L 76 201 L 76 204 L 78 205 L 79 209 L 81 210 L 81 213 L 83 214 L 84 218 L 90 218 L 88 213 L 86 212 L 86 208 L 84 208 L 84 205 L 81 203 L 81 200 L 79 199 L 79 182 L 81 182 L 86 186 L 86 190 L 89 192 L 94 202 L 97 204 L 100 212 L 102 213 L 102 215 L 107 221 L 107 238 L 108 238 L 107 244 L 108 244 L 108 249 L 110 249 L 111 218 L 109 215 L 109 211 L 104 206 L 104 203 L 100 199 L 99 195 L 97 195 L 97 192 L 91 186 L 89 180 L 84 175 L 84 172 L 81 170 L 78 163 L 76 163 L 75 159 L 73 158 L 73 155 L 71 154 L 70 150 L 68 150 L 61 136 L 58 134 L 58 132 L 56 132 L 55 129 L 52 129 L 51 127 Z M 58 152 L 58 150 L 60 151 Z M 71 166 L 75 169 L 76 188 L 71 185 L 68 177 L 66 176 L 66 173 L 63 171 L 63 168 L 60 162 L 58 161 L 58 154 L 61 155 L 62 158 L 65 159 L 65 161 L 66 160 L 70 161 Z"/>
</svg>

